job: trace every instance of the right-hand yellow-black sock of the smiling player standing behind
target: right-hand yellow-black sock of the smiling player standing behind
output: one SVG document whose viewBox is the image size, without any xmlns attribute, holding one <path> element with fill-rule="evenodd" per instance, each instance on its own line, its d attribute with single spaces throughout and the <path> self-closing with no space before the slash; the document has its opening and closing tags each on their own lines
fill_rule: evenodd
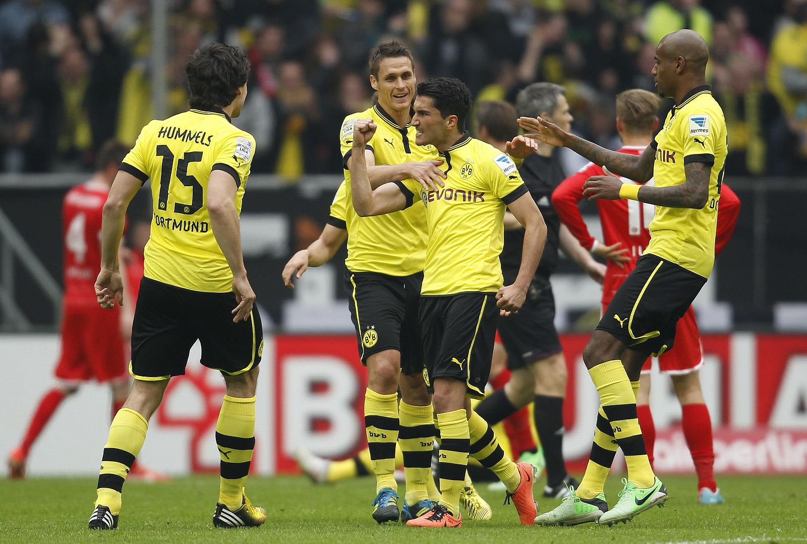
<svg viewBox="0 0 807 544">
<path fill-rule="evenodd" d="M 403 473 L 406 476 L 406 502 L 417 504 L 429 499 L 434 450 L 434 408 L 412 406 L 403 400 L 398 404 L 400 432 L 398 443 L 403 451 Z"/>
</svg>

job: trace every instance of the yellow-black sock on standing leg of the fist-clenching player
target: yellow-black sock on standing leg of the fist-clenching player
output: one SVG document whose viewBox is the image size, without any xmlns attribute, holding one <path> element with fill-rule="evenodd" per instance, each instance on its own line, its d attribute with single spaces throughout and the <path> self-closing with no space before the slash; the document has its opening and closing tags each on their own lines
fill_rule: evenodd
<svg viewBox="0 0 807 544">
<path fill-rule="evenodd" d="M 465 408 L 437 414 L 440 426 L 440 504 L 459 516 L 459 495 L 465 485 L 470 433 Z"/>
</svg>

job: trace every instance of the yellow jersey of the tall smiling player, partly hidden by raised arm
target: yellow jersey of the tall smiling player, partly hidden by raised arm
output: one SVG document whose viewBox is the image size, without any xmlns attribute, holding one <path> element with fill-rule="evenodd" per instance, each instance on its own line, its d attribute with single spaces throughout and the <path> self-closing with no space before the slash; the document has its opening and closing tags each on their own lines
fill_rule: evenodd
<svg viewBox="0 0 807 544">
<path fill-rule="evenodd" d="M 348 230 L 348 257 L 345 266 L 353 272 L 376 272 L 389 276 L 408 276 L 423 271 L 426 258 L 426 217 L 421 206 L 384 216 L 359 217 L 353 210 L 353 192 L 347 161 L 352 153 L 355 119 L 373 119 L 378 127 L 367 143 L 376 165 L 437 158 L 432 145 L 415 144 L 415 128 L 399 127 L 386 111 L 375 105 L 348 115 L 342 123 L 341 149 L 345 166 L 345 199 Z"/>
</svg>

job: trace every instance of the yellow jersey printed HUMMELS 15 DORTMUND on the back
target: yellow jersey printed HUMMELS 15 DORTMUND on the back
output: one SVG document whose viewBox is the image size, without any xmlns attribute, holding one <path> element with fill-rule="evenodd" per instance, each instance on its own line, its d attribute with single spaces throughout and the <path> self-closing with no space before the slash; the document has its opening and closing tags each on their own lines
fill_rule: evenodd
<svg viewBox="0 0 807 544">
<path fill-rule="evenodd" d="M 140 131 L 120 169 L 152 180 L 146 278 L 191 291 L 232 291 L 232 270 L 207 213 L 207 182 L 213 170 L 232 175 L 240 214 L 254 149 L 255 139 L 221 110 L 191 109 Z"/>
</svg>

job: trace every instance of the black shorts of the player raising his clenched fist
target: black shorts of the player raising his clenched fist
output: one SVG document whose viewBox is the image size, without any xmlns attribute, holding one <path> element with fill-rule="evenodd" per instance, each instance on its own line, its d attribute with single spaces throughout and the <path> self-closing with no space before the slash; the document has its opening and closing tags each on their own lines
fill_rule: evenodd
<svg viewBox="0 0 807 544">
<path fill-rule="evenodd" d="M 420 299 L 426 386 L 437 378 L 465 382 L 466 395 L 485 398 L 496 336 L 495 293 L 459 293 Z"/>
</svg>

